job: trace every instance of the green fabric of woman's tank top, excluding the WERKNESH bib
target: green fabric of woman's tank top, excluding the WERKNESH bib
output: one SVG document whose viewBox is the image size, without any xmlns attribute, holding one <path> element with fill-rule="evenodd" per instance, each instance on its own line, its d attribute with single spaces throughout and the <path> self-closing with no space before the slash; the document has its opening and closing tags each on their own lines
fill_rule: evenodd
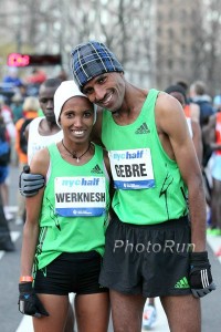
<svg viewBox="0 0 221 332">
<path fill-rule="evenodd" d="M 82 166 L 65 162 L 55 144 L 50 145 L 51 174 L 46 184 L 40 217 L 40 237 L 36 248 L 35 269 L 42 269 L 62 252 L 85 252 L 96 250 L 104 255 L 105 231 L 107 227 L 109 196 L 108 179 L 103 162 L 103 149 L 95 145 L 95 155 Z M 99 173 L 94 173 L 99 166 Z M 55 177 L 105 177 L 106 209 L 99 217 L 62 217 L 55 210 Z"/>
</svg>

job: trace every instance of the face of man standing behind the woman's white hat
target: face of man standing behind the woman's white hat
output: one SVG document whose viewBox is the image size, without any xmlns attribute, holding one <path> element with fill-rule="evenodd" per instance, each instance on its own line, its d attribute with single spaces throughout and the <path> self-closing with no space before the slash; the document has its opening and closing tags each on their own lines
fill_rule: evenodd
<svg viewBox="0 0 221 332">
<path fill-rule="evenodd" d="M 54 116 L 54 93 L 57 86 L 44 86 L 42 85 L 39 91 L 40 106 L 44 113 L 46 120 L 51 123 L 55 123 Z"/>
</svg>

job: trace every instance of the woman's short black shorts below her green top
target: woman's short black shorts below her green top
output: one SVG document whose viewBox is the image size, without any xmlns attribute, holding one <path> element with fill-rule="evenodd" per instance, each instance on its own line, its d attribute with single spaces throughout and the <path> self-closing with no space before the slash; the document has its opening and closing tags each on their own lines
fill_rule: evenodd
<svg viewBox="0 0 221 332">
<path fill-rule="evenodd" d="M 36 293 L 57 295 L 107 292 L 98 283 L 101 264 L 102 256 L 96 251 L 62 253 L 36 271 L 34 290 Z"/>
</svg>

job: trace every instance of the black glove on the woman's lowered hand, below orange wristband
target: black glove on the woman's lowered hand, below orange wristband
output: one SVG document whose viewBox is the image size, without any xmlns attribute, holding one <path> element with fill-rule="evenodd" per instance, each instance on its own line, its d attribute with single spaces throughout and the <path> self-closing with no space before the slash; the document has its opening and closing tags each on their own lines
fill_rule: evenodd
<svg viewBox="0 0 221 332">
<path fill-rule="evenodd" d="M 19 283 L 19 311 L 23 314 L 33 315 L 40 318 L 42 315 L 49 315 L 49 312 L 44 309 L 43 304 L 39 300 L 38 295 L 32 288 L 32 282 Z"/>
</svg>

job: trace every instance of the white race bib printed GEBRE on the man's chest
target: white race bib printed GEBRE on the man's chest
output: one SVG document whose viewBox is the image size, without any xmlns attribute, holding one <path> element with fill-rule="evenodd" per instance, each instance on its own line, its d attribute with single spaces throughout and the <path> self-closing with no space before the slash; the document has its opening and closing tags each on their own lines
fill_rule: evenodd
<svg viewBox="0 0 221 332">
<path fill-rule="evenodd" d="M 115 188 L 130 190 L 155 187 L 149 148 L 110 151 L 108 156 Z"/>
</svg>

